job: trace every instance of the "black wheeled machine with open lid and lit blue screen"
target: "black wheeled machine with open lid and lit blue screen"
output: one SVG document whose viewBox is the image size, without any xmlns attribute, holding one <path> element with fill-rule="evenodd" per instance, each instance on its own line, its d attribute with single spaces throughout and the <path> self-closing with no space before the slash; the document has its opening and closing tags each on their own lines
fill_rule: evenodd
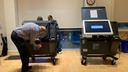
<svg viewBox="0 0 128 72">
<path fill-rule="evenodd" d="M 120 47 L 118 27 L 107 19 L 105 7 L 82 7 L 83 32 L 80 41 L 81 64 L 87 64 L 88 57 L 111 57 L 111 64 L 118 60 L 115 55 Z"/>
</svg>

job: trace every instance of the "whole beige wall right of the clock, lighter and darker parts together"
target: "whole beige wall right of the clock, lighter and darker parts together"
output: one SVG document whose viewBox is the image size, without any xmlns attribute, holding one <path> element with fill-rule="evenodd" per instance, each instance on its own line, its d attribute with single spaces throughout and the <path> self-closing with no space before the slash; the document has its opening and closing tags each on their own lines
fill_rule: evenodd
<svg viewBox="0 0 128 72">
<path fill-rule="evenodd" d="M 97 5 L 106 6 L 110 20 L 128 22 L 128 0 L 97 0 Z"/>
</svg>

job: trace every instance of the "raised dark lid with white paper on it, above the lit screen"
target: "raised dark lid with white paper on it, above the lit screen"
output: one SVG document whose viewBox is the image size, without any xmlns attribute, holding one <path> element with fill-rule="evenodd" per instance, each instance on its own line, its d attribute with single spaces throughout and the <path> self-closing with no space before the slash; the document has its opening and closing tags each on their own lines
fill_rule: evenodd
<svg viewBox="0 0 128 72">
<path fill-rule="evenodd" d="M 82 20 L 107 19 L 105 7 L 82 7 Z"/>
</svg>

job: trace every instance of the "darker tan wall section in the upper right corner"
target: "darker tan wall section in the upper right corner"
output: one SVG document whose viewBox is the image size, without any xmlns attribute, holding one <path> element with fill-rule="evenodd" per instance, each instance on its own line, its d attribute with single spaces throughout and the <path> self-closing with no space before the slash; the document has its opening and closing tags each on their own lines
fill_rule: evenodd
<svg viewBox="0 0 128 72">
<path fill-rule="evenodd" d="M 128 22 L 128 0 L 115 1 L 115 20 Z"/>
</svg>

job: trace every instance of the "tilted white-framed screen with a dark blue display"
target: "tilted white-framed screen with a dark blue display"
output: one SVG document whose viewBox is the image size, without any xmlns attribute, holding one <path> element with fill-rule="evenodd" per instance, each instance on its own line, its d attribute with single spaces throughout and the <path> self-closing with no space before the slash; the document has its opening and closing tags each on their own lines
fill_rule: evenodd
<svg viewBox="0 0 128 72">
<path fill-rule="evenodd" d="M 84 21 L 84 33 L 87 34 L 112 34 L 108 21 Z"/>
</svg>

